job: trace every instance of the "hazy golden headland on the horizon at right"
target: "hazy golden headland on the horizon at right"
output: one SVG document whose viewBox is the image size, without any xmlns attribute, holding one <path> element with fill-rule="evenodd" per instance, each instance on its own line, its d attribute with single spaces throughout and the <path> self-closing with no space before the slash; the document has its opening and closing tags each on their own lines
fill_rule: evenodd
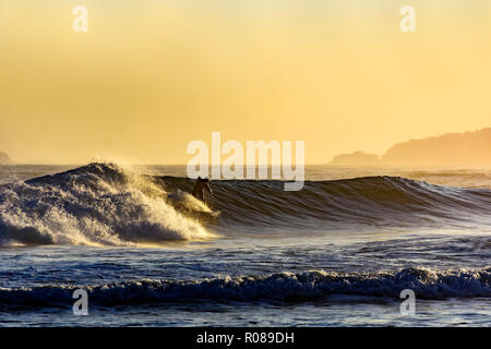
<svg viewBox="0 0 491 349">
<path fill-rule="evenodd" d="M 381 158 L 363 152 L 342 154 L 335 156 L 330 165 L 491 166 L 491 128 L 398 143 Z"/>
</svg>

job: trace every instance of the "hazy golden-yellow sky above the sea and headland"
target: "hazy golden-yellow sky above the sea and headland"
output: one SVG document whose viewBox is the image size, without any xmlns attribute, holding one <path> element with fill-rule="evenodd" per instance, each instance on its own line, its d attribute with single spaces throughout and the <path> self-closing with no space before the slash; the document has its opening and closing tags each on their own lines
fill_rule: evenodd
<svg viewBox="0 0 491 349">
<path fill-rule="evenodd" d="M 0 151 L 185 164 L 220 131 L 326 163 L 490 127 L 490 17 L 489 0 L 0 0 Z"/>
</svg>

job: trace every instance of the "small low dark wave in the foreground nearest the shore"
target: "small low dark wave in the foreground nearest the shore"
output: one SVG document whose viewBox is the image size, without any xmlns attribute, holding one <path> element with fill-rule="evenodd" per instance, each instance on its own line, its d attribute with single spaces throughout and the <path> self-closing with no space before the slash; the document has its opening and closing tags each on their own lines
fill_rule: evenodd
<svg viewBox="0 0 491 349">
<path fill-rule="evenodd" d="M 0 288 L 0 302 L 10 304 L 61 305 L 73 303 L 73 286 Z M 417 298 L 491 297 L 491 269 L 445 270 L 406 268 L 396 273 L 342 274 L 311 270 L 263 276 L 172 281 L 139 280 L 81 287 L 91 303 L 182 302 L 182 301 L 302 301 L 331 294 L 399 298 L 412 289 Z"/>
</svg>

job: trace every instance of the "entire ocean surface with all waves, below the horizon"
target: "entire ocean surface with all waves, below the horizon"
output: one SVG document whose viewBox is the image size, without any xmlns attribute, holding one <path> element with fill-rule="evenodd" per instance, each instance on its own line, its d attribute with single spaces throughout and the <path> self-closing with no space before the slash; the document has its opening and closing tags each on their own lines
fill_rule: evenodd
<svg viewBox="0 0 491 349">
<path fill-rule="evenodd" d="M 491 170 L 306 177 L 203 204 L 183 166 L 0 166 L 0 326 L 491 325 Z"/>
</svg>

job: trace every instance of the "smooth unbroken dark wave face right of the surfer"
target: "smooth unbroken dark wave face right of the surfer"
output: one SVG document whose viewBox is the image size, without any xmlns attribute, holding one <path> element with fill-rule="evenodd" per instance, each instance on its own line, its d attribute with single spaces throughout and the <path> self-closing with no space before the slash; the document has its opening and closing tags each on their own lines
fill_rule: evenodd
<svg viewBox="0 0 491 349">
<path fill-rule="evenodd" d="M 168 191 L 190 191 L 193 181 L 159 178 Z M 208 205 L 224 224 L 322 229 L 460 227 L 491 222 L 491 190 L 433 185 L 400 177 L 307 181 L 286 192 L 282 181 L 212 181 Z"/>
</svg>

